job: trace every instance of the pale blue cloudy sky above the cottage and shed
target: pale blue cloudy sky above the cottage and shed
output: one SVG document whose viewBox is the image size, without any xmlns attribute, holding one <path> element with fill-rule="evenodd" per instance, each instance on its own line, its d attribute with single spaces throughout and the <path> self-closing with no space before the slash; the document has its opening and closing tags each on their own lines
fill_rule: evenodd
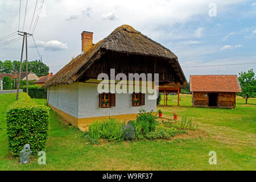
<svg viewBox="0 0 256 182">
<path fill-rule="evenodd" d="M 187 80 L 256 70 L 256 0 L 0 0 L 0 60 L 20 60 L 22 36 L 12 33 L 34 30 L 39 53 L 28 36 L 28 60 L 42 55 L 56 73 L 81 53 L 82 31 L 97 43 L 122 24 L 174 52 Z"/>
</svg>

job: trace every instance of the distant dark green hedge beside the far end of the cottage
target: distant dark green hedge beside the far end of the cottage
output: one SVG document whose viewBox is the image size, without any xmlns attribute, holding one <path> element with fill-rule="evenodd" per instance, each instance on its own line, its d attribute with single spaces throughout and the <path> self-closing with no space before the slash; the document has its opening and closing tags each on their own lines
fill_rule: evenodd
<svg viewBox="0 0 256 182">
<path fill-rule="evenodd" d="M 27 92 L 24 86 L 23 92 Z M 47 88 L 42 88 L 40 85 L 28 85 L 28 96 L 31 98 L 47 98 Z"/>
</svg>

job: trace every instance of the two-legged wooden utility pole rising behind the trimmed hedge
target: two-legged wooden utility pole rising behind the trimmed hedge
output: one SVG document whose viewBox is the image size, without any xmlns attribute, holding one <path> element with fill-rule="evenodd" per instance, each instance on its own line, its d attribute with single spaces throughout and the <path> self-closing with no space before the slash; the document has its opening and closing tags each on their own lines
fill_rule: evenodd
<svg viewBox="0 0 256 182">
<path fill-rule="evenodd" d="M 26 37 L 26 82 L 27 82 L 27 94 L 28 94 L 28 77 L 27 77 L 27 32 L 21 32 L 21 31 L 18 31 L 22 34 L 18 34 L 18 35 L 21 35 L 23 36 L 23 42 L 22 42 L 22 53 L 21 53 L 21 56 L 20 56 L 20 64 L 19 64 L 19 81 L 18 81 L 18 85 L 17 85 L 17 94 L 16 94 L 16 100 L 18 100 L 18 97 L 19 97 L 19 86 L 20 86 L 20 74 L 21 74 L 21 68 L 22 68 L 22 59 L 23 59 L 23 49 L 24 49 L 24 41 L 25 41 L 25 37 Z M 28 35 L 32 35 L 32 34 L 28 34 Z"/>
</svg>

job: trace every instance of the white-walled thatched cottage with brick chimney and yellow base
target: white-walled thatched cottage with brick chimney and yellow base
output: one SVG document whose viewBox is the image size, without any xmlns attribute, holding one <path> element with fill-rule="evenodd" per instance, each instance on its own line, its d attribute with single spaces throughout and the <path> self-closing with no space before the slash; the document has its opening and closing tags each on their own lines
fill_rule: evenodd
<svg viewBox="0 0 256 182">
<path fill-rule="evenodd" d="M 116 28 L 96 44 L 92 32 L 83 31 L 81 40 L 82 53 L 43 85 L 48 88 L 48 105 L 75 126 L 108 117 L 129 121 L 136 118 L 140 109 L 156 111 L 156 98 L 150 99 L 152 93 L 148 90 L 142 92 L 146 87 L 142 83 L 132 80 L 126 84 L 127 89 L 136 84 L 136 92 L 99 92 L 97 77 L 101 73 L 110 76 L 110 69 L 114 69 L 114 75 L 123 73 L 127 78 L 130 73 L 151 73 L 152 77 L 158 73 L 159 85 L 187 85 L 177 56 L 129 25 Z M 115 79 L 111 84 L 113 81 L 106 78 L 109 86 L 115 86 Z"/>
</svg>

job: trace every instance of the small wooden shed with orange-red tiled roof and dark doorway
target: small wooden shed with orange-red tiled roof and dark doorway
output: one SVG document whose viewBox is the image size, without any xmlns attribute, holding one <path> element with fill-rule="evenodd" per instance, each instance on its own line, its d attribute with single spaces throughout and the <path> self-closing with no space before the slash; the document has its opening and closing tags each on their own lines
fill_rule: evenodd
<svg viewBox="0 0 256 182">
<path fill-rule="evenodd" d="M 191 75 L 193 107 L 234 109 L 236 92 L 242 92 L 236 75 Z"/>
</svg>

